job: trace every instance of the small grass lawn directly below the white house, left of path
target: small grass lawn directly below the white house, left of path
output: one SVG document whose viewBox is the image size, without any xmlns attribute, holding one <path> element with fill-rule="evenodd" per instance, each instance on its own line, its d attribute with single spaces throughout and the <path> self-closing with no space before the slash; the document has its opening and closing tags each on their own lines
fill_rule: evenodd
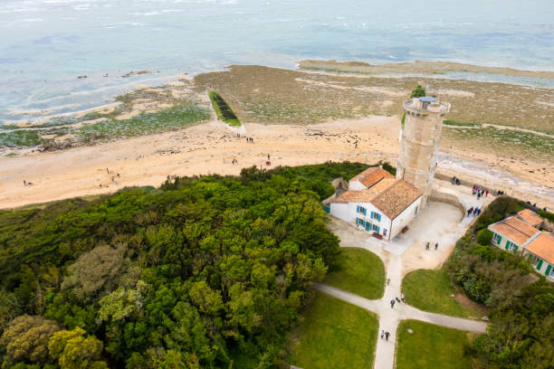
<svg viewBox="0 0 554 369">
<path fill-rule="evenodd" d="M 373 252 L 341 248 L 339 266 L 330 270 L 323 281 L 363 298 L 382 298 L 385 290 L 385 266 Z"/>
</svg>

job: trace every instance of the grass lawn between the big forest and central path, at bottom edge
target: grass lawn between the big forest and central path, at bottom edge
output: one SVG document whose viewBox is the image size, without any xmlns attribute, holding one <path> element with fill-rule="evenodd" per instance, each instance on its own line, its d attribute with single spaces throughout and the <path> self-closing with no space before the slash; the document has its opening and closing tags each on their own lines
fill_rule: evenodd
<svg viewBox="0 0 554 369">
<path fill-rule="evenodd" d="M 285 360 L 303 369 L 371 368 L 377 317 L 321 292 L 304 311 Z"/>
</svg>

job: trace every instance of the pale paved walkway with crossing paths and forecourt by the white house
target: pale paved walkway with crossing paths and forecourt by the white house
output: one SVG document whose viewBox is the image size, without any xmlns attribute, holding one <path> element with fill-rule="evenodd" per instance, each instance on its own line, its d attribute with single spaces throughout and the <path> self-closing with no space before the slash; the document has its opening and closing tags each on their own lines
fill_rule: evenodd
<svg viewBox="0 0 554 369">
<path fill-rule="evenodd" d="M 472 199 L 470 197 L 467 200 L 469 203 Z M 486 206 L 486 203 L 483 202 L 479 204 Z M 396 328 L 401 320 L 416 319 L 438 326 L 448 326 L 476 333 L 486 331 L 487 324 L 482 321 L 430 313 L 398 302 L 394 307 L 390 307 L 390 301 L 392 299 L 396 301 L 396 298 L 401 296 L 402 278 L 406 271 L 422 268 L 434 269 L 441 266 L 454 248 L 455 241 L 469 227 L 470 222 L 466 219 L 467 217 L 462 218 L 461 213 L 459 216 L 454 216 L 454 221 L 446 219 L 448 216 L 452 216 L 452 212 L 455 215 L 455 212 L 459 211 L 454 206 L 451 210 L 445 209 L 444 206 L 450 205 L 429 203 L 424 209 L 426 213 L 420 213 L 415 221 L 415 223 L 422 222 L 427 226 L 413 226 L 410 231 L 406 232 L 406 235 L 388 242 L 368 237 L 367 233 L 356 231 L 344 222 L 332 220 L 330 223 L 332 231 L 340 238 L 341 247 L 359 247 L 372 251 L 383 261 L 387 270 L 386 279 L 390 282 L 385 288 L 383 298 L 380 299 L 370 300 L 325 284 L 315 285 L 315 289 L 321 292 L 377 314 L 379 335 L 381 330 L 384 330 L 390 333 L 390 337 L 388 341 L 377 338 L 375 369 L 394 368 Z M 473 220 L 473 217 L 471 218 Z M 429 227 L 429 224 L 433 224 L 433 228 Z M 431 233 L 429 233 L 429 229 L 431 229 Z M 425 251 L 424 244 L 427 241 L 438 241 L 440 243 L 439 251 Z"/>
</svg>

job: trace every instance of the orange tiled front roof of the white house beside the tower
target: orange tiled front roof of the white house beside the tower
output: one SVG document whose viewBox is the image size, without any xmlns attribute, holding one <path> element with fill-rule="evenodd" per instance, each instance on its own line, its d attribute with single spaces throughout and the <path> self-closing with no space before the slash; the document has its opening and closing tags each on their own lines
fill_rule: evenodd
<svg viewBox="0 0 554 369">
<path fill-rule="evenodd" d="M 408 184 L 404 179 L 392 177 L 383 178 L 367 190 L 347 191 L 333 203 L 372 203 L 389 219 L 395 219 L 419 196 L 421 192 L 416 187 Z"/>
</svg>

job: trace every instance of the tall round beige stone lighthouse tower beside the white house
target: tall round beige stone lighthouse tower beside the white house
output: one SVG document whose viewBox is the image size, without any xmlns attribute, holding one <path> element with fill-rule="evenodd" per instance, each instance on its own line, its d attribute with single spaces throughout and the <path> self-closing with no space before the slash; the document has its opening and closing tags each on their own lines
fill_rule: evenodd
<svg viewBox="0 0 554 369">
<path fill-rule="evenodd" d="M 406 120 L 402 131 L 396 178 L 416 186 L 422 194 L 422 207 L 433 190 L 436 155 L 441 141 L 444 115 L 450 111 L 449 103 L 422 97 L 404 102 Z"/>
</svg>

